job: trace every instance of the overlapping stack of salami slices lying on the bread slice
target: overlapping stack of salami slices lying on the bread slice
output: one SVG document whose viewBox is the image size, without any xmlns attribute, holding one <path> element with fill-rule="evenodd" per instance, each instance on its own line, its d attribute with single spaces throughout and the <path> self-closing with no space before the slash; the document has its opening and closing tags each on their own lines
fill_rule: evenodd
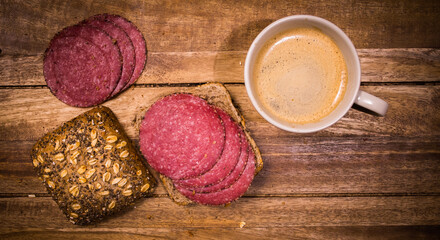
<svg viewBox="0 0 440 240">
<path fill-rule="evenodd" d="M 179 93 L 155 102 L 139 137 L 150 166 L 194 202 L 234 201 L 254 178 L 255 155 L 240 125 L 198 96 Z"/>
</svg>

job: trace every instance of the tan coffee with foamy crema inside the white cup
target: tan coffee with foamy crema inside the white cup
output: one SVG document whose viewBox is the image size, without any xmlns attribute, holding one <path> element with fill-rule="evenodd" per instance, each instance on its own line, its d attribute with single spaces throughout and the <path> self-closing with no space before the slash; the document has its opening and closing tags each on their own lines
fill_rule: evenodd
<svg viewBox="0 0 440 240">
<path fill-rule="evenodd" d="M 317 122 L 339 104 L 347 65 L 334 41 L 315 28 L 281 32 L 265 43 L 253 71 L 264 108 L 289 123 Z"/>
</svg>

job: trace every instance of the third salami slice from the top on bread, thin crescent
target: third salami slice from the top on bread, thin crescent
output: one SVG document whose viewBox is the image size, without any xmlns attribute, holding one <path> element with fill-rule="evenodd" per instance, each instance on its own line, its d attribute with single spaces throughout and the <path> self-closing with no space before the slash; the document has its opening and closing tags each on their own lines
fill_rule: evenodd
<svg viewBox="0 0 440 240">
<path fill-rule="evenodd" d="M 185 187 L 185 186 L 181 186 L 179 184 L 176 184 L 176 187 L 186 188 L 192 192 L 197 192 L 197 193 L 210 193 L 210 192 L 217 192 L 217 191 L 220 191 L 222 189 L 225 189 L 225 188 L 228 188 L 229 186 L 231 186 L 235 181 L 237 181 L 237 179 L 243 173 L 243 171 L 246 167 L 246 163 L 248 162 L 247 159 L 249 158 L 249 152 L 252 152 L 252 149 L 250 148 L 243 132 L 242 132 L 241 138 L 242 139 L 241 139 L 240 158 L 238 160 L 237 165 L 234 167 L 232 172 L 225 179 L 223 179 L 221 182 L 219 182 L 217 184 L 213 184 L 210 186 L 204 186 L 204 187 L 198 187 L 198 188 L 197 187 Z"/>
</svg>

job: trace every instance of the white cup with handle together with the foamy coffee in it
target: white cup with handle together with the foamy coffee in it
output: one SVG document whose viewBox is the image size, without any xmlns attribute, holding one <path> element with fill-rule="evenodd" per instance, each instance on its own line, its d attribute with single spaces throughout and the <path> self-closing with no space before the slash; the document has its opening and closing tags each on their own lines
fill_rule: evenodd
<svg viewBox="0 0 440 240">
<path fill-rule="evenodd" d="M 246 55 L 244 82 L 258 113 L 295 133 L 327 128 L 353 104 L 381 116 L 388 110 L 359 90 L 360 61 L 348 36 L 316 16 L 288 16 L 263 29 Z"/>
</svg>

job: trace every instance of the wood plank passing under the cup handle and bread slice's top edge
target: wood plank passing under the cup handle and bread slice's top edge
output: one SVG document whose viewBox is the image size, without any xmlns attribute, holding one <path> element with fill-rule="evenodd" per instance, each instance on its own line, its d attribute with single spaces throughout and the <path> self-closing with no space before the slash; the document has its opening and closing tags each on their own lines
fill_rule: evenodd
<svg viewBox="0 0 440 240">
<path fill-rule="evenodd" d="M 440 86 L 365 86 L 361 89 L 390 104 L 386 117 L 351 109 L 333 126 L 312 134 L 293 134 L 266 122 L 252 106 L 243 85 L 229 85 L 232 99 L 244 115 L 253 136 L 435 136 L 440 134 Z M 185 90 L 179 87 L 135 87 L 107 101 L 131 138 L 138 135 L 138 124 L 145 106 L 164 94 Z M 45 132 L 84 112 L 68 107 L 47 88 L 0 89 L 0 140 L 37 140 Z"/>
</svg>

